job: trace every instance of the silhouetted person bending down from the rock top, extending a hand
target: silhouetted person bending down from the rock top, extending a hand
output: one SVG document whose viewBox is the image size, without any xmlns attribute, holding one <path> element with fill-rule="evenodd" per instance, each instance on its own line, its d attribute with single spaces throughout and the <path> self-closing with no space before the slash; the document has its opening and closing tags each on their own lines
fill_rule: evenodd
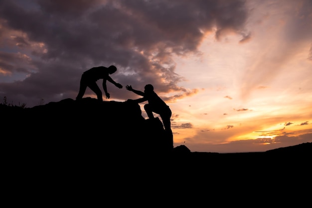
<svg viewBox="0 0 312 208">
<path fill-rule="evenodd" d="M 97 85 L 96 81 L 99 79 L 103 79 L 103 89 L 106 95 L 106 98 L 110 98 L 110 93 L 107 91 L 106 81 L 113 83 L 118 88 L 123 88 L 123 86 L 117 82 L 115 82 L 109 75 L 113 74 L 117 71 L 116 66 L 111 65 L 109 67 L 98 66 L 93 67 L 87 71 L 85 71 L 81 75 L 80 79 L 80 88 L 79 93 L 76 97 L 76 100 L 82 99 L 82 96 L 85 94 L 87 87 L 89 87 L 98 97 L 98 100 L 103 101 L 102 91 Z"/>
</svg>

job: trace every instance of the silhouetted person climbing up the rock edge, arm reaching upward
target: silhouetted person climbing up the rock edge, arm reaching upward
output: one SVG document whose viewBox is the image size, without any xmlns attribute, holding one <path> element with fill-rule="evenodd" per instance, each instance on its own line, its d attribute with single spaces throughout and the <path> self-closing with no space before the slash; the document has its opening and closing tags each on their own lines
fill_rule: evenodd
<svg viewBox="0 0 312 208">
<path fill-rule="evenodd" d="M 138 103 L 142 103 L 144 101 L 149 102 L 149 104 L 144 105 L 144 109 L 145 109 L 145 112 L 148 114 L 150 119 L 155 118 L 153 112 L 159 114 L 159 116 L 162 120 L 164 130 L 168 134 L 168 137 L 170 139 L 170 142 L 171 142 L 172 148 L 173 148 L 173 134 L 171 131 L 171 121 L 170 121 L 170 117 L 171 117 L 172 112 L 171 112 L 169 106 L 167 106 L 165 104 L 165 102 L 156 94 L 156 92 L 154 92 L 153 85 L 151 85 L 151 84 L 145 85 L 144 92 L 133 89 L 131 85 L 130 86 L 127 85 L 126 89 L 129 91 L 132 91 L 138 95 L 143 96 L 143 98 L 139 98 L 136 100 L 128 99 L 127 101 L 134 101 L 134 102 L 138 102 Z"/>
</svg>

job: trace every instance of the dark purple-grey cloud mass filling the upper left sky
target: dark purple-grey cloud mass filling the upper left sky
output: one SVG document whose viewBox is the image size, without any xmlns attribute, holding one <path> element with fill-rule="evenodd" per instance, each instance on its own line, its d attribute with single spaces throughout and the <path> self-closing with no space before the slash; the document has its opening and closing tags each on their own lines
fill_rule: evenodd
<svg viewBox="0 0 312 208">
<path fill-rule="evenodd" d="M 244 0 L 1 0 L 6 45 L 0 78 L 25 74 L 0 82 L 0 93 L 24 100 L 75 97 L 83 71 L 111 64 L 119 69 L 114 79 L 124 85 L 192 92 L 178 86 L 184 78 L 175 73 L 173 54 L 197 52 L 208 31 L 216 39 L 228 32 L 246 39 L 247 13 Z M 19 51 L 31 60 L 13 61 Z M 110 88 L 111 95 L 123 99 L 126 92 L 118 90 Z"/>
</svg>

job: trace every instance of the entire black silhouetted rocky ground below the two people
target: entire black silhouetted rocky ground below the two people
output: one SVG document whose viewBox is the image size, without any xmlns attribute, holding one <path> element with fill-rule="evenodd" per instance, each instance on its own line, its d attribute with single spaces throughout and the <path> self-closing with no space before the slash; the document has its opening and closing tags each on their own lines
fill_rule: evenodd
<svg viewBox="0 0 312 208">
<path fill-rule="evenodd" d="M 170 151 L 159 119 L 141 113 L 138 104 L 91 98 L 0 105 L 2 198 L 40 207 L 253 207 L 268 199 L 304 207 L 312 143 L 261 153 Z M 295 194 L 300 200 L 290 204 Z"/>
</svg>

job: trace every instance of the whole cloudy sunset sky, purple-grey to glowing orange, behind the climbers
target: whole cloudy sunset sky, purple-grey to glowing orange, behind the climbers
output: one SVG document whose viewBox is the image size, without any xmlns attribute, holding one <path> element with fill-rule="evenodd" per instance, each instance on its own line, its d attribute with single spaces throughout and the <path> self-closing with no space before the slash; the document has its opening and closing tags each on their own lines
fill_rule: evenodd
<svg viewBox="0 0 312 208">
<path fill-rule="evenodd" d="M 312 142 L 312 0 L 0 0 L 0 103 L 75 99 L 84 71 L 110 65 L 124 87 L 103 100 L 153 84 L 174 147 Z"/>
</svg>

